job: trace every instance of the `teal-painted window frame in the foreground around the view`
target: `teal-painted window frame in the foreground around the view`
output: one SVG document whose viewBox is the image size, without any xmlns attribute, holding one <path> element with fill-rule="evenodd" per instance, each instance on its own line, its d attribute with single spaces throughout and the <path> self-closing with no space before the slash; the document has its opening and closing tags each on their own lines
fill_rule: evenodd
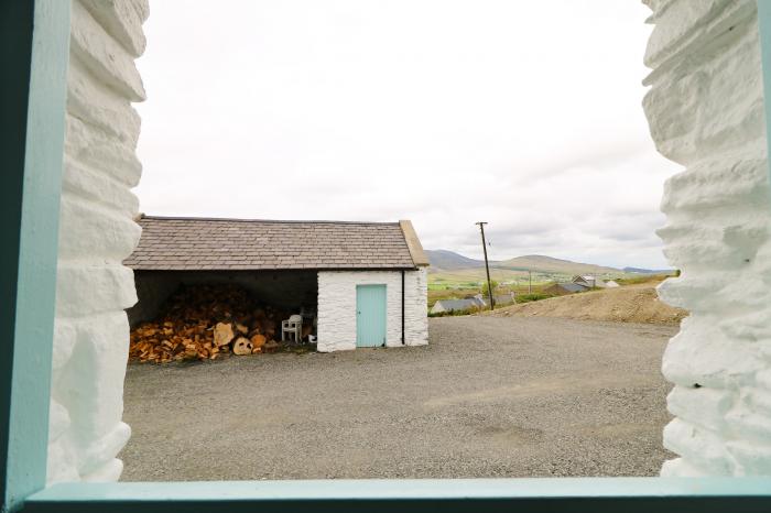
<svg viewBox="0 0 771 513">
<path fill-rule="evenodd" d="M 759 21 L 768 91 L 771 0 L 759 0 Z M 69 0 L 0 2 L 0 64 L 7 72 L 0 80 L 2 512 L 771 511 L 770 478 L 218 481 L 46 488 L 68 41 Z"/>
</svg>

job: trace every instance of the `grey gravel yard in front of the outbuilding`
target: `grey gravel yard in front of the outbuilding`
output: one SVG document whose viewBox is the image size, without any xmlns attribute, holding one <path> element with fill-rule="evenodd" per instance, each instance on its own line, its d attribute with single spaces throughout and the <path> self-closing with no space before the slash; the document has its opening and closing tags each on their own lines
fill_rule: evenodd
<svg viewBox="0 0 771 513">
<path fill-rule="evenodd" d="M 675 327 L 431 319 L 431 345 L 130 364 L 124 481 L 653 476 Z"/>
</svg>

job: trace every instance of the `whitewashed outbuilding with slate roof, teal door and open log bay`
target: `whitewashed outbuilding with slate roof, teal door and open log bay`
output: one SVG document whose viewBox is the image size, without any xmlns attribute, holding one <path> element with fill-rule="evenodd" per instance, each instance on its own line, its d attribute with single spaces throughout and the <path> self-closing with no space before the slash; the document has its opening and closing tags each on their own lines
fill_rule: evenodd
<svg viewBox="0 0 771 513">
<path fill-rule="evenodd" d="M 123 263 L 153 318 L 181 285 L 237 284 L 315 319 L 322 352 L 428 342 L 428 260 L 410 221 L 275 221 L 142 216 Z"/>
</svg>

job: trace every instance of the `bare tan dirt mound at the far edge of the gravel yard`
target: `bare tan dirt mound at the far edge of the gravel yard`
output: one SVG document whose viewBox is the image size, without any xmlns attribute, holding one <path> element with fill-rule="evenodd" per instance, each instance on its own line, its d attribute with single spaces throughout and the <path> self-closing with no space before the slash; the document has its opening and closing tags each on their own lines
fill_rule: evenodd
<svg viewBox="0 0 771 513">
<path fill-rule="evenodd" d="M 616 323 L 678 324 L 688 313 L 659 301 L 650 285 L 606 288 L 553 297 L 486 313 L 508 317 L 513 315 L 565 317 L 568 319 L 610 320 Z"/>
</svg>

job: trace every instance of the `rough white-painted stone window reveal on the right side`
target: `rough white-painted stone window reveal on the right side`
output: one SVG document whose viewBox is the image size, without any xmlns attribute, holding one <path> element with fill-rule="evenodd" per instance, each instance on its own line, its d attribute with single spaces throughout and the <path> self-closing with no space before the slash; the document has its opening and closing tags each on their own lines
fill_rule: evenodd
<svg viewBox="0 0 771 513">
<path fill-rule="evenodd" d="M 664 354 L 676 418 L 663 476 L 771 474 L 771 190 L 754 0 L 648 0 L 644 99 L 659 151 L 685 166 L 660 230 L 691 310 Z"/>
</svg>

